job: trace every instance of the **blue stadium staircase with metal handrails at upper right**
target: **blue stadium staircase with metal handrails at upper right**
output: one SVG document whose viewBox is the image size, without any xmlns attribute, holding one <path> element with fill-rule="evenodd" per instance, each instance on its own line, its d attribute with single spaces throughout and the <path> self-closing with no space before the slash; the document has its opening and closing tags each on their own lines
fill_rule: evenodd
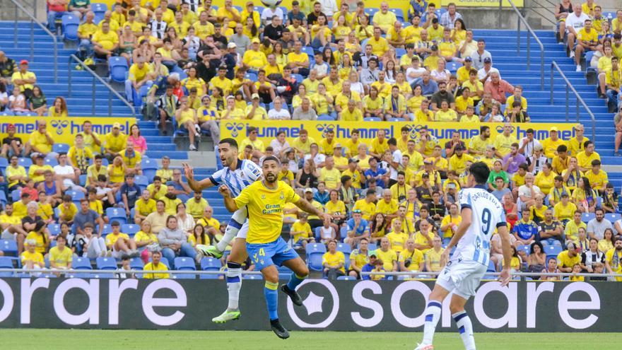
<svg viewBox="0 0 622 350">
<path fill-rule="evenodd" d="M 604 170 L 609 175 L 618 193 L 622 187 L 622 158 L 614 157 L 614 118 L 607 111 L 606 102 L 598 98 L 596 86 L 588 84 L 583 72 L 575 71 L 573 59 L 568 58 L 565 46 L 558 45 L 552 30 L 536 30 L 544 45 L 544 90 L 540 86 L 540 47 L 532 38 L 530 67 L 527 69 L 527 32 L 521 32 L 520 54 L 516 52 L 516 30 L 474 30 L 474 39 L 486 40 L 486 49 L 493 56 L 493 66 L 499 69 L 501 78 L 512 85 L 521 85 L 527 98 L 529 116 L 532 122 L 560 124 L 566 122 L 565 81 L 555 71 L 553 77 L 553 103 L 551 103 L 551 62 L 555 61 L 563 74 L 581 95 L 596 119 L 595 137 L 592 138 L 592 119 L 580 105 L 580 122 L 585 125 L 585 136 L 594 141 L 600 154 Z M 569 122 L 576 122 L 576 99 L 569 94 Z"/>
</svg>

